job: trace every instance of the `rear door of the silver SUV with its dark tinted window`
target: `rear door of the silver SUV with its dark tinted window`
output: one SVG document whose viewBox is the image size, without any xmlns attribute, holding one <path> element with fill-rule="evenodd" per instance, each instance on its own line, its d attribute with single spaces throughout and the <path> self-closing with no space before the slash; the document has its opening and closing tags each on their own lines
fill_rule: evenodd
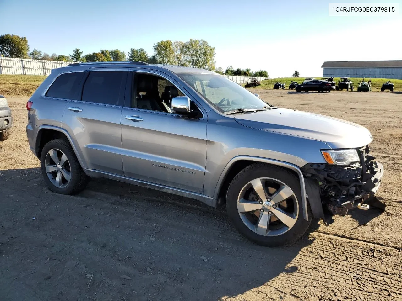
<svg viewBox="0 0 402 301">
<path fill-rule="evenodd" d="M 128 68 L 89 69 L 63 116 L 88 169 L 123 175 L 120 116 Z"/>
</svg>

